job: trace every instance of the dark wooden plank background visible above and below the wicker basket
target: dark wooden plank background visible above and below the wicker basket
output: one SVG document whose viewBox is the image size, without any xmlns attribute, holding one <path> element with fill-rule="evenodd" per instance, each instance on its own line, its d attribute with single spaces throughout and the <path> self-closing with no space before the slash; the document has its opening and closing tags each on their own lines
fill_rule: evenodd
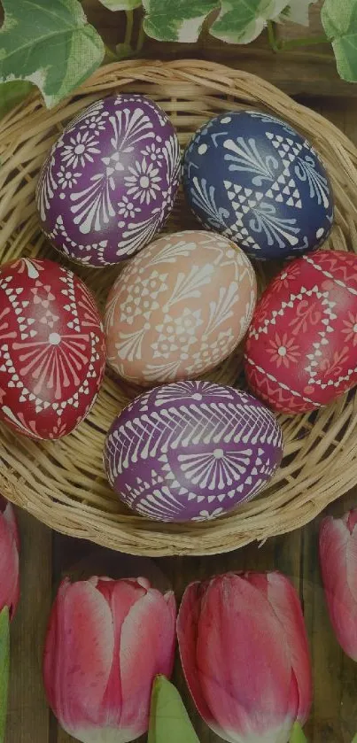
<svg viewBox="0 0 357 743">
<path fill-rule="evenodd" d="M 97 0 L 84 5 L 90 19 L 101 27 L 106 40 L 116 43 L 120 37 L 119 16 L 105 12 Z M 118 19 L 118 21 L 117 21 Z M 319 32 L 317 8 L 310 33 Z M 286 28 L 285 36 L 297 34 Z M 158 44 L 147 41 L 142 52 L 151 58 L 173 56 L 209 58 L 239 66 L 260 74 L 280 85 L 303 103 L 322 112 L 357 143 L 357 85 L 338 79 L 329 48 L 310 47 L 298 52 L 274 55 L 265 38 L 249 47 L 231 47 L 204 36 L 198 46 Z M 330 507 L 341 514 L 357 506 L 357 487 Z M 314 669 L 314 708 L 307 735 L 310 743 L 351 743 L 357 730 L 357 664 L 339 649 L 330 629 L 324 606 L 317 561 L 319 519 L 305 529 L 270 539 L 264 546 L 251 545 L 237 552 L 202 558 L 162 558 L 153 566 L 108 553 L 89 543 L 64 538 L 25 512 L 19 513 L 22 538 L 21 601 L 12 623 L 12 671 L 6 743 L 70 743 L 73 739 L 61 731 L 43 694 L 41 658 L 43 637 L 50 603 L 58 580 L 66 574 L 88 576 L 106 571 L 120 577 L 122 570 L 139 575 L 159 568 L 164 584 L 175 589 L 181 599 L 184 586 L 191 580 L 210 577 L 225 570 L 281 569 L 291 576 L 303 603 Z M 218 743 L 196 714 L 176 662 L 175 682 L 190 710 L 201 743 Z M 184 743 L 184 741 L 182 741 Z"/>
</svg>

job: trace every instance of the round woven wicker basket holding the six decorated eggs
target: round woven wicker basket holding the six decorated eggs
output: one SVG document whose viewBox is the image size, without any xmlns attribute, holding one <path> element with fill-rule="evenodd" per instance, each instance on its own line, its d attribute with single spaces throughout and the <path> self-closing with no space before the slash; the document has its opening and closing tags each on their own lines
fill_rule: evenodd
<svg viewBox="0 0 357 743">
<path fill-rule="evenodd" d="M 0 262 L 19 255 L 56 259 L 39 228 L 37 174 L 66 122 L 112 90 L 140 92 L 158 101 L 171 116 L 182 145 L 205 120 L 242 105 L 288 120 L 314 143 L 330 173 L 337 208 L 327 246 L 356 249 L 357 150 L 338 128 L 251 74 L 195 60 L 130 61 L 101 68 L 75 96 L 50 112 L 35 96 L 0 122 Z M 197 227 L 179 199 L 167 231 L 183 225 Z M 78 270 L 103 306 L 120 269 Z M 267 278 L 260 274 L 262 282 Z M 238 351 L 210 378 L 239 383 L 239 370 Z M 36 443 L 0 426 L 0 491 L 53 529 L 115 550 L 210 554 L 296 529 L 357 482 L 357 398 L 350 393 L 317 414 L 280 416 L 283 466 L 268 490 L 233 514 L 179 525 L 133 515 L 105 480 L 102 450 L 114 416 L 135 394 L 107 376 L 89 418 L 58 442 Z"/>
</svg>

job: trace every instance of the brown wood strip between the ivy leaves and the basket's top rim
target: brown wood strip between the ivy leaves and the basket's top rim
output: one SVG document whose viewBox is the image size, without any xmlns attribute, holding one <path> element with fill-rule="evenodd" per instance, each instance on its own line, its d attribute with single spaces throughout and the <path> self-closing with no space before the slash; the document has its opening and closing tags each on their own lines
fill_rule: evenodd
<svg viewBox="0 0 357 743">
<path fill-rule="evenodd" d="M 314 38 L 322 34 L 320 8 L 322 0 L 310 9 L 310 26 L 284 24 L 277 29 L 280 39 Z M 83 7 L 92 23 L 112 48 L 123 41 L 125 15 L 105 10 L 99 0 L 83 0 Z M 134 40 L 141 11 L 135 12 Z M 162 43 L 148 37 L 140 52 L 143 58 L 199 58 L 221 62 L 246 72 L 264 75 L 279 88 L 293 96 L 357 97 L 357 84 L 341 81 L 329 43 L 308 45 L 299 49 L 274 52 L 264 32 L 250 44 L 228 44 L 214 39 L 205 29 L 198 43 Z"/>
</svg>

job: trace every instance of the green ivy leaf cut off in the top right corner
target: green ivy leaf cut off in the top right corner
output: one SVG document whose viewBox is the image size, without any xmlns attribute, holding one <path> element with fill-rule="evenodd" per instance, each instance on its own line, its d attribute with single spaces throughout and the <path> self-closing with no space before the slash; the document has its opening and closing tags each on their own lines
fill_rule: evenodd
<svg viewBox="0 0 357 743">
<path fill-rule="evenodd" d="M 322 26 L 332 42 L 338 74 L 357 81 L 357 0 L 325 0 Z"/>
</svg>

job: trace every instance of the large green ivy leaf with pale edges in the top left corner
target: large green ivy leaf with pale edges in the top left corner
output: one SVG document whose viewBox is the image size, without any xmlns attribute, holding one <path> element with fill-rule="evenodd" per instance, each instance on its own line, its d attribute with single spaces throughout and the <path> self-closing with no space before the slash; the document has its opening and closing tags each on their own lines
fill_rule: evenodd
<svg viewBox="0 0 357 743">
<path fill-rule="evenodd" d="M 2 2 L 0 82 L 34 82 L 52 106 L 100 65 L 104 44 L 78 0 Z"/>
</svg>

